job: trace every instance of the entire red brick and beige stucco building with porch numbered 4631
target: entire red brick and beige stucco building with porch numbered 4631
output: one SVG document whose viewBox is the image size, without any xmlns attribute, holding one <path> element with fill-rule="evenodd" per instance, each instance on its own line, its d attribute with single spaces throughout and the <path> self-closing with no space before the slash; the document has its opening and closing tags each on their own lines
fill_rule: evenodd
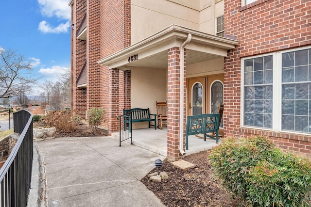
<svg viewBox="0 0 311 207">
<path fill-rule="evenodd" d="M 281 100 L 279 91 L 273 91 L 272 98 L 241 98 L 247 94 L 244 90 L 257 87 L 257 82 L 242 84 L 244 73 L 247 77 L 257 74 L 248 64 L 257 63 L 260 57 L 268 63 L 276 56 L 269 56 L 272 52 L 310 45 L 310 3 L 294 0 L 296 9 L 291 10 L 290 2 L 71 0 L 71 107 L 82 116 L 92 107 L 104 108 L 104 125 L 111 134 L 119 130 L 117 116 L 122 109 L 150 108 L 155 113 L 155 101 L 167 101 L 169 160 L 185 153 L 186 116 L 215 112 L 222 103 L 225 136 L 263 133 L 281 142 L 289 138 L 287 143 L 296 151 L 307 153 L 302 150 L 310 147 L 306 132 L 280 129 L 275 123 L 281 119 L 275 101 Z M 299 23 L 293 23 L 297 19 Z M 300 36 L 292 35 L 293 31 Z M 269 81 L 280 81 L 275 80 L 276 62 L 269 63 L 267 71 L 261 70 Z M 261 88 L 268 85 L 279 90 L 270 82 L 259 84 Z M 261 104 L 251 111 L 251 100 L 265 101 L 267 106 L 272 102 L 273 107 L 260 113 Z M 250 117 L 259 120 L 260 114 L 266 117 L 265 125 L 250 124 Z M 270 123 L 266 122 L 269 117 Z M 133 127 L 147 127 L 147 123 Z"/>
</svg>

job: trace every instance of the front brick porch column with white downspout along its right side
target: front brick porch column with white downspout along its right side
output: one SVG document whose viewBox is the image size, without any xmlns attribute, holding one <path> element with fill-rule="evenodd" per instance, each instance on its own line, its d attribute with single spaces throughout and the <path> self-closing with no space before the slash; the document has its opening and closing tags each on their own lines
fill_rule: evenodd
<svg viewBox="0 0 311 207">
<path fill-rule="evenodd" d="M 186 61 L 185 61 L 186 64 Z M 179 152 L 179 76 L 180 76 L 180 51 L 178 47 L 168 50 L 168 127 L 167 127 L 167 159 L 174 161 L 182 157 Z M 184 78 L 184 92 L 186 92 L 186 76 Z M 186 93 L 184 96 L 184 106 L 186 104 Z M 185 110 L 183 110 L 185 117 Z M 185 129 L 185 127 L 184 127 Z M 185 130 L 182 132 L 185 137 Z M 185 140 L 185 139 L 184 139 Z M 183 144 L 185 146 L 185 142 Z"/>
</svg>

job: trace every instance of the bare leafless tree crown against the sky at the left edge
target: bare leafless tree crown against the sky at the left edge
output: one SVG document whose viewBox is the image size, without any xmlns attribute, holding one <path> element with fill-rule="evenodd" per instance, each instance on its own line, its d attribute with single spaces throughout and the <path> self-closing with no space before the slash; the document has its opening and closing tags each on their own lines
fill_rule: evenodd
<svg viewBox="0 0 311 207">
<path fill-rule="evenodd" d="M 32 78 L 31 63 L 11 49 L 0 48 L 0 98 L 27 94 L 38 79 Z"/>
</svg>

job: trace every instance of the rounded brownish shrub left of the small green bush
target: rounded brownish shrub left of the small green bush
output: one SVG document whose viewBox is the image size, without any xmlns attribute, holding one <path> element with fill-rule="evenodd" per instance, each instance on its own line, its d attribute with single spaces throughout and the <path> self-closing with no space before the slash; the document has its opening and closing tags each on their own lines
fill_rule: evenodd
<svg viewBox="0 0 311 207">
<path fill-rule="evenodd" d="M 42 116 L 40 125 L 43 127 L 56 127 L 57 130 L 65 133 L 75 131 L 81 121 L 81 117 L 74 110 L 55 110 Z"/>
</svg>

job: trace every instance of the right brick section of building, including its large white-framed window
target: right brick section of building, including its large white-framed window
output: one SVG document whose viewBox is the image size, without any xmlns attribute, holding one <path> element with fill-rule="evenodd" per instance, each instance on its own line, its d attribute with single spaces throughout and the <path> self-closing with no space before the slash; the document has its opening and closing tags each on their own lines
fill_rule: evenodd
<svg viewBox="0 0 311 207">
<path fill-rule="evenodd" d="M 226 136 L 264 134 L 311 158 L 311 1 L 225 0 Z"/>
</svg>

